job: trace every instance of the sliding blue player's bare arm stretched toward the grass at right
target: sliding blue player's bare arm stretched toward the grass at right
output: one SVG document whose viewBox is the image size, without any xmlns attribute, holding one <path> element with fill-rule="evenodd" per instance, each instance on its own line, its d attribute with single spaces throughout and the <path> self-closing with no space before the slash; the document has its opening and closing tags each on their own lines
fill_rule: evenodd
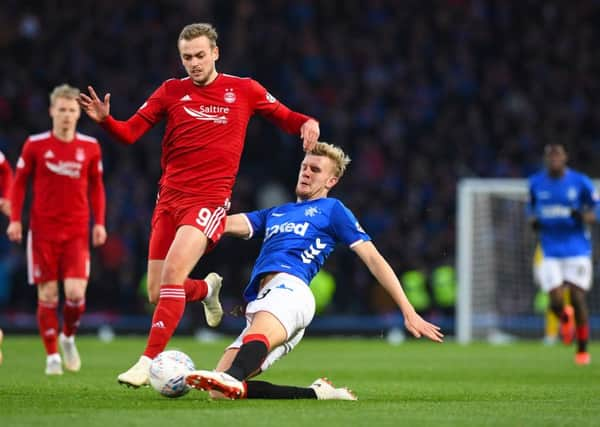
<svg viewBox="0 0 600 427">
<path fill-rule="evenodd" d="M 427 322 L 415 311 L 414 307 L 408 301 L 396 273 L 394 273 L 394 270 L 385 258 L 381 256 L 375 245 L 372 242 L 363 242 L 352 249 L 369 268 L 381 286 L 388 291 L 396 304 L 398 304 L 404 316 L 406 329 L 417 338 L 426 336 L 432 341 L 442 342 L 444 335 L 440 332 L 440 327 Z"/>
</svg>

